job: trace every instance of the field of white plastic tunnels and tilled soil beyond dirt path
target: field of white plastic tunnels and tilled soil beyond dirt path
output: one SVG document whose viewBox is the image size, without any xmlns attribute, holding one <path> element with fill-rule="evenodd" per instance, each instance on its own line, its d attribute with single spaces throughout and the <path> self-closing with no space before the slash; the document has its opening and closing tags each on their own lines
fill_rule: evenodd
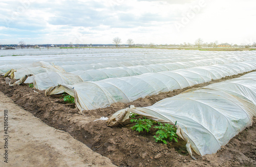
<svg viewBox="0 0 256 167">
<path fill-rule="evenodd" d="M 117 166 L 256 165 L 255 51 L 18 51 L 0 50 L 0 73 L 9 74 L 1 77 L 1 91 L 42 122 L 106 157 L 106 166 L 108 158 Z M 26 75 L 32 76 L 10 86 Z M 139 115 L 116 126 L 97 120 L 131 105 L 135 108 L 126 110 Z M 136 123 L 131 120 L 143 116 L 173 125 L 178 136 L 156 142 L 158 123 L 153 121 L 149 132 L 132 130 Z M 93 164 L 90 155 L 84 159 Z"/>
</svg>

